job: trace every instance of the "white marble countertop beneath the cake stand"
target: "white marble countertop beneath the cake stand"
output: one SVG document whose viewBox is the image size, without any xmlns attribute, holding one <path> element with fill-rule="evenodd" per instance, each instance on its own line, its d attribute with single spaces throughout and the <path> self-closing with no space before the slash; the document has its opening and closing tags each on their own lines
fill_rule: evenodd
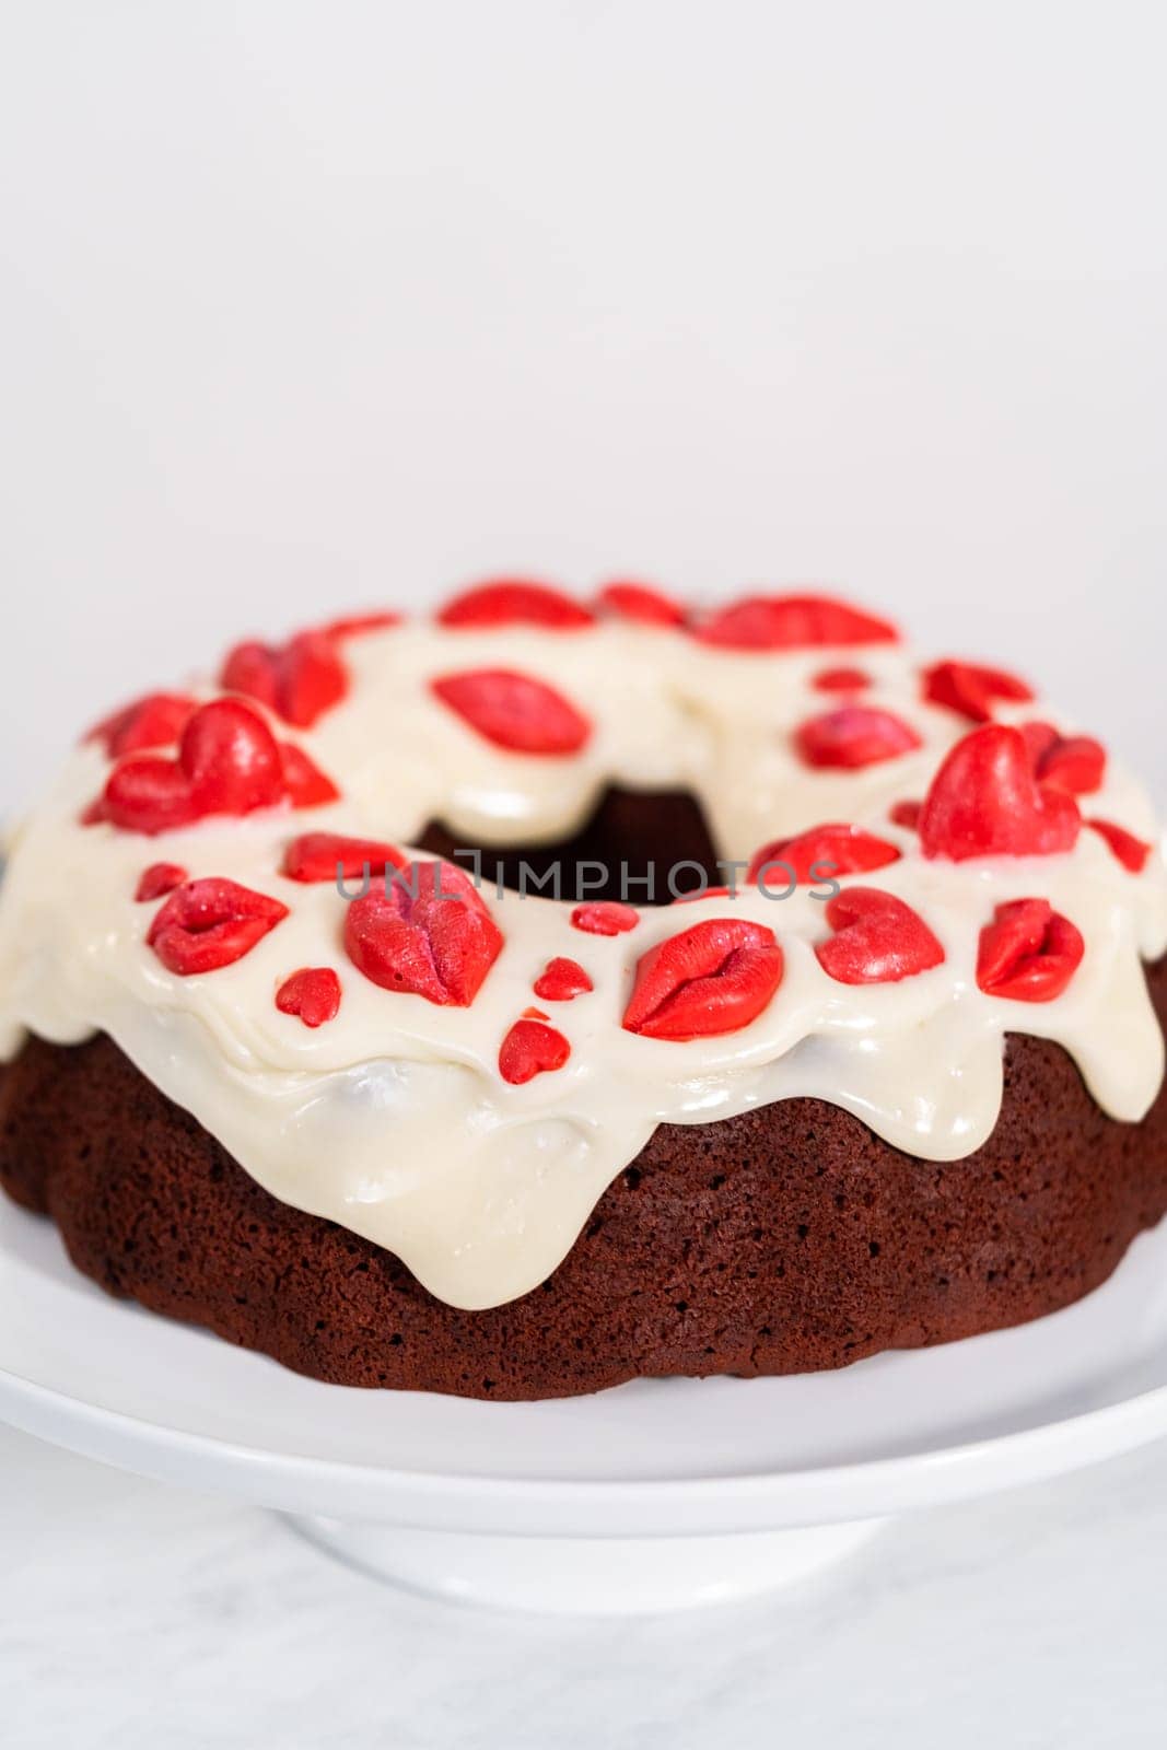
<svg viewBox="0 0 1167 1750">
<path fill-rule="evenodd" d="M 490 1615 L 0 1430 L 12 1750 L 1127 1750 L 1165 1741 L 1167 1444 L 901 1521 L 810 1587 Z"/>
</svg>

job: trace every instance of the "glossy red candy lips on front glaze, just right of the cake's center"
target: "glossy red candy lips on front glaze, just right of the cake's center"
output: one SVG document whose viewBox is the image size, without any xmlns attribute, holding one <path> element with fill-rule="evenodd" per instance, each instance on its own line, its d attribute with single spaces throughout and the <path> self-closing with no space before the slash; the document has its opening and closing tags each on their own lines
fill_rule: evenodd
<svg viewBox="0 0 1167 1750">
<path fill-rule="evenodd" d="M 765 924 L 710 917 L 640 956 L 621 1026 L 649 1040 L 737 1032 L 772 1001 L 782 964 Z"/>
</svg>

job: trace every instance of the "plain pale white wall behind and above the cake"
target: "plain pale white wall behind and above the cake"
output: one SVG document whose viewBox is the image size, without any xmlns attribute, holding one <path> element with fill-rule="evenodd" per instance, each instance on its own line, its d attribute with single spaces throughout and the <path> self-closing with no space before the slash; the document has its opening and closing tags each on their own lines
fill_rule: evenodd
<svg viewBox="0 0 1167 1750">
<path fill-rule="evenodd" d="M 0 798 L 248 630 L 826 579 L 1167 784 L 1167 9 L 10 4 Z"/>
</svg>

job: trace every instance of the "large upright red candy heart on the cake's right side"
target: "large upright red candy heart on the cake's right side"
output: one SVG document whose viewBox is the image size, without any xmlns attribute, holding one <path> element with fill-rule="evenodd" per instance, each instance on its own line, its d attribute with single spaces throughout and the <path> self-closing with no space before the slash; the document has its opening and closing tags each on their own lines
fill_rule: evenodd
<svg viewBox="0 0 1167 1750">
<path fill-rule="evenodd" d="M 950 749 L 920 808 L 926 858 L 1053 856 L 1073 850 L 1081 816 L 1039 784 L 1020 730 L 987 723 Z"/>
</svg>

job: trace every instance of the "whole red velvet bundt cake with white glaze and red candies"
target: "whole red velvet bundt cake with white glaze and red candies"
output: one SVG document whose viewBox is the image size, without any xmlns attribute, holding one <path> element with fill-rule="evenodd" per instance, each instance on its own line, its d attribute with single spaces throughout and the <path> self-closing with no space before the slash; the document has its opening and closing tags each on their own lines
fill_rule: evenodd
<svg viewBox="0 0 1167 1750">
<path fill-rule="evenodd" d="M 329 1381 L 838 1367 L 1162 1216 L 1165 948 L 1146 794 L 1015 674 L 504 581 L 91 732 L 0 889 L 0 1180 Z"/>
</svg>

